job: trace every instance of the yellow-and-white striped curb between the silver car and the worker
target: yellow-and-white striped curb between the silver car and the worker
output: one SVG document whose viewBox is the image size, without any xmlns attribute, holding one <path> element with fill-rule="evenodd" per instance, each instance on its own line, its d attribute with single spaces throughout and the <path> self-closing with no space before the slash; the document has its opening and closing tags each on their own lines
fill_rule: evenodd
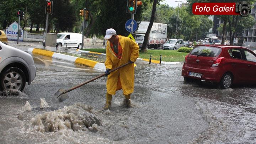
<svg viewBox="0 0 256 144">
<path fill-rule="evenodd" d="M 54 52 L 51 52 L 48 50 L 37 49 L 37 48 L 29 48 L 28 53 L 41 54 L 41 55 L 45 55 L 47 57 L 61 59 L 61 60 L 65 60 L 65 61 L 76 63 L 76 64 L 83 64 L 83 65 L 86 65 L 86 66 L 89 66 L 91 68 L 98 69 L 98 70 L 106 70 L 105 64 L 103 64 L 103 63 L 98 63 L 93 60 L 78 58 L 78 57 L 74 57 L 71 55 L 54 53 Z"/>
</svg>

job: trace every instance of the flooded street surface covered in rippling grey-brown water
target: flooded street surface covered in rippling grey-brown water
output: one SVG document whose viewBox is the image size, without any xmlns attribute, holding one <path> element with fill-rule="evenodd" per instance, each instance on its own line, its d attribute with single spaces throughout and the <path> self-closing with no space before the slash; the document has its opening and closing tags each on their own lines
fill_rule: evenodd
<svg viewBox="0 0 256 144">
<path fill-rule="evenodd" d="M 118 91 L 112 108 L 102 110 L 106 77 L 69 92 L 67 100 L 54 104 L 51 99 L 57 90 L 69 89 L 103 71 L 36 54 L 33 58 L 37 76 L 32 84 L 20 95 L 0 97 L 1 143 L 256 143 L 256 86 L 219 90 L 215 85 L 184 83 L 182 63 L 137 60 L 132 108 L 120 107 L 123 95 Z M 40 98 L 49 107 L 40 109 Z M 31 111 L 24 111 L 26 101 Z M 85 128 L 80 120 L 65 119 L 70 110 L 73 119 L 90 115 L 84 115 L 90 110 L 102 126 L 95 123 Z M 47 116 L 48 123 L 42 120 Z M 66 128 L 67 119 L 70 128 Z M 38 130 L 46 127 L 44 123 L 60 127 L 54 132 Z"/>
</svg>

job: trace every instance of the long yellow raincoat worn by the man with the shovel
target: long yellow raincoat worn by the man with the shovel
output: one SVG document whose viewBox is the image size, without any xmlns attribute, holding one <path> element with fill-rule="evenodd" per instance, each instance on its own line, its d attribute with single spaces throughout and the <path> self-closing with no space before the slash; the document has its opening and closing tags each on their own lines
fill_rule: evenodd
<svg viewBox="0 0 256 144">
<path fill-rule="evenodd" d="M 139 57 L 139 46 L 136 42 L 128 37 L 118 36 L 119 44 L 122 47 L 122 58 L 118 59 L 113 53 L 110 42 L 107 42 L 106 47 L 106 69 L 114 69 L 120 65 L 130 61 L 135 62 Z M 119 78 L 119 80 L 118 80 Z M 123 68 L 113 71 L 108 75 L 107 93 L 110 95 L 116 94 L 117 90 L 123 89 L 123 94 L 132 94 L 134 89 L 134 63 L 128 64 Z"/>
</svg>

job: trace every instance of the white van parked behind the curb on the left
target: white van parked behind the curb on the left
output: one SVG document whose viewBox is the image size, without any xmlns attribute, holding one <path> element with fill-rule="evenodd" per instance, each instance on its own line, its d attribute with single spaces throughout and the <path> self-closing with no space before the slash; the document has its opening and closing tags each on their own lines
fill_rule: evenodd
<svg viewBox="0 0 256 144">
<path fill-rule="evenodd" d="M 72 32 L 57 33 L 57 47 L 82 48 L 82 34 Z"/>
</svg>

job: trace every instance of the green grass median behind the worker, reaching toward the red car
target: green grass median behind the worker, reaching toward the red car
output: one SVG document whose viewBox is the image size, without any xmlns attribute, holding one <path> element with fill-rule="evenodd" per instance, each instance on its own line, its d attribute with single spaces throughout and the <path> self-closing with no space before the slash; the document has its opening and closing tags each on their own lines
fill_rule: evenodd
<svg viewBox="0 0 256 144">
<path fill-rule="evenodd" d="M 86 49 L 91 52 L 98 53 L 106 53 L 106 49 L 102 48 L 94 48 L 94 49 Z M 159 60 L 160 55 L 162 55 L 162 61 L 164 62 L 182 62 L 184 61 L 186 55 L 188 53 L 177 52 L 176 50 L 153 50 L 149 49 L 148 52 L 139 53 L 139 58 L 149 59 L 149 55 L 151 55 L 153 60 Z"/>
</svg>

